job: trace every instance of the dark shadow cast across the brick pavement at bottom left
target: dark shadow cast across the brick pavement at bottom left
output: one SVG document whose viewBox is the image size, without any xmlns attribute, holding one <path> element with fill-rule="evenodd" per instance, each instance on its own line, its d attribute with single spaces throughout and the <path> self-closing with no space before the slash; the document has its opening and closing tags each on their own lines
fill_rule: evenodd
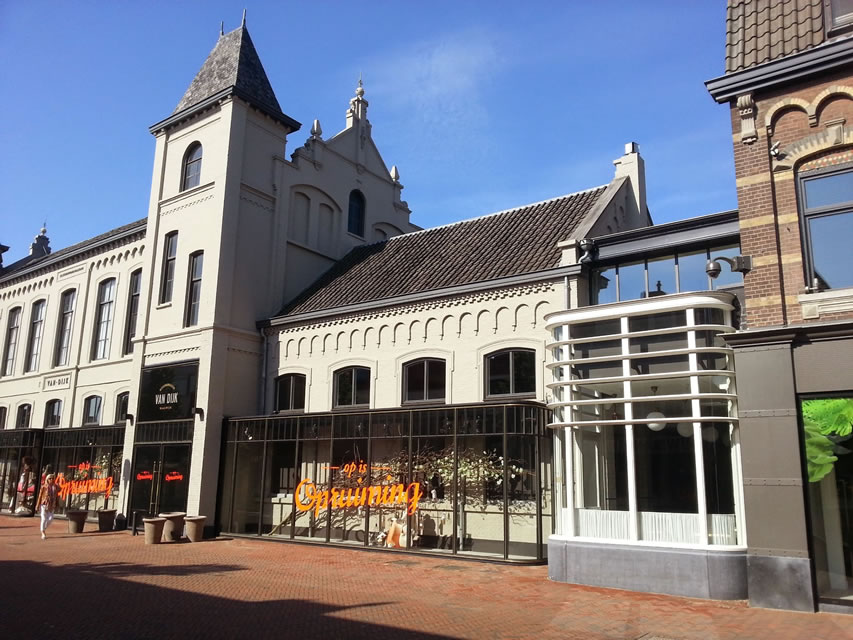
<svg viewBox="0 0 853 640">
<path fill-rule="evenodd" d="M 193 576 L 239 567 L 147 567 L 124 563 L 50 566 L 33 561 L 0 562 L 6 585 L 3 635 L 24 638 L 338 638 L 440 640 L 450 636 L 347 620 L 347 610 L 393 604 L 377 601 L 329 605 L 311 600 L 267 600 L 241 581 L 233 597 L 184 591 L 122 578 L 145 575 Z M 197 571 L 195 570 L 197 569 Z M 146 573 L 147 572 L 147 573 Z M 192 579 L 189 588 L 199 588 Z M 364 593 L 387 591 L 366 580 Z M 248 591 L 248 593 L 241 593 Z M 368 614 L 371 615 L 371 614 Z"/>
</svg>

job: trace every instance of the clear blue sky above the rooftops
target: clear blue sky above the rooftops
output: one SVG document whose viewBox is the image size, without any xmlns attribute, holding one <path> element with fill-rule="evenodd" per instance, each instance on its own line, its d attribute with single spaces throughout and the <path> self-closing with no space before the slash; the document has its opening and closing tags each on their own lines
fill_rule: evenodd
<svg viewBox="0 0 853 640">
<path fill-rule="evenodd" d="M 147 214 L 154 138 L 243 4 L 0 4 L 0 242 L 58 249 Z M 431 227 L 608 182 L 640 143 L 668 222 L 737 206 L 725 3 L 247 2 L 286 114 L 344 126 L 359 72 L 412 221 Z"/>
</svg>

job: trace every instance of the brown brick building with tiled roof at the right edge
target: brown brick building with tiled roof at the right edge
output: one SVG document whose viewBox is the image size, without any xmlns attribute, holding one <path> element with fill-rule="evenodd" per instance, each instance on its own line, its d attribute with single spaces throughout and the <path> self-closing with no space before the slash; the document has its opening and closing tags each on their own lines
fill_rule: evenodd
<svg viewBox="0 0 853 640">
<path fill-rule="evenodd" d="M 815 416 L 853 406 L 851 27 L 849 2 L 730 0 L 726 74 L 707 83 L 731 109 L 752 258 L 746 324 L 728 341 L 760 606 L 835 609 L 853 594 L 850 425 Z"/>
</svg>

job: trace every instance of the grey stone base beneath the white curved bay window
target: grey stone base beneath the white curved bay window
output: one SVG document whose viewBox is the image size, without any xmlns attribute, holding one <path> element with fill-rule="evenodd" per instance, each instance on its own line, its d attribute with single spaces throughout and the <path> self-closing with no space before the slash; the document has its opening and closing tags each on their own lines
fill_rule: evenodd
<svg viewBox="0 0 853 640">
<path fill-rule="evenodd" d="M 548 540 L 548 577 L 559 582 L 714 600 L 747 595 L 746 551 L 673 549 Z"/>
</svg>

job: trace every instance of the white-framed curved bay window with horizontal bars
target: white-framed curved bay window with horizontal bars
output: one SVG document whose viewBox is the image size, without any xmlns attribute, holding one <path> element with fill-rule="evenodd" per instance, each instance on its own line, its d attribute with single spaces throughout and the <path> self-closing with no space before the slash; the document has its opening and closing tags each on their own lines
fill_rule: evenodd
<svg viewBox="0 0 853 640">
<path fill-rule="evenodd" d="M 716 292 L 553 314 L 560 535 L 742 545 L 734 296 Z"/>
</svg>

